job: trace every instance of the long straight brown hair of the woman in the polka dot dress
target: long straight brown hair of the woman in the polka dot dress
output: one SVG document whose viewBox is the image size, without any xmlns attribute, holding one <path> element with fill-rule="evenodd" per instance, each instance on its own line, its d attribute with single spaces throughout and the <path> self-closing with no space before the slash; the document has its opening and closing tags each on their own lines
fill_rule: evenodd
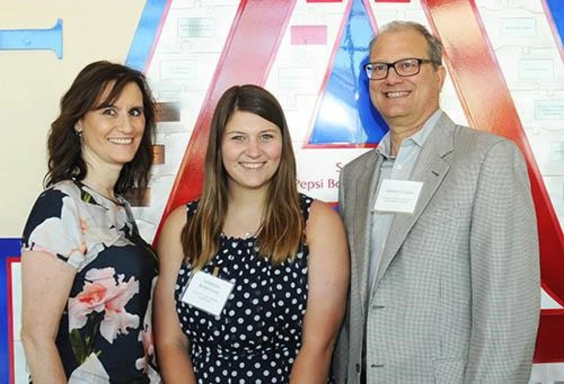
<svg viewBox="0 0 564 384">
<path fill-rule="evenodd" d="M 270 180 L 257 235 L 259 253 L 272 264 L 281 264 L 298 252 L 305 222 L 299 204 L 296 159 L 284 111 L 265 89 L 246 84 L 223 93 L 211 119 L 205 158 L 204 188 L 195 214 L 186 222 L 180 238 L 184 256 L 192 267 L 201 269 L 218 251 L 227 214 L 227 175 L 221 157 L 223 132 L 235 111 L 254 113 L 280 128 L 280 165 Z"/>
</svg>

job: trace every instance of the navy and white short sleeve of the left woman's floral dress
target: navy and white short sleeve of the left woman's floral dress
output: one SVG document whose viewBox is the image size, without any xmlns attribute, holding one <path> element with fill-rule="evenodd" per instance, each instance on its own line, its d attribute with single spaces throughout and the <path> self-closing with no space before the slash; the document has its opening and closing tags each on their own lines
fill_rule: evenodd
<svg viewBox="0 0 564 384">
<path fill-rule="evenodd" d="M 22 236 L 22 252 L 52 253 L 76 269 L 85 258 L 86 243 L 75 199 L 59 189 L 47 189 L 37 198 Z"/>
</svg>

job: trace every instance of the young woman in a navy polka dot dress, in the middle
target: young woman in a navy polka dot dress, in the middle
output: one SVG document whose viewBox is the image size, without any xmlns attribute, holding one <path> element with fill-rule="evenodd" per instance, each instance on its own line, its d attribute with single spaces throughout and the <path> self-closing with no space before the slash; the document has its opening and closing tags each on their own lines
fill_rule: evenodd
<svg viewBox="0 0 564 384">
<path fill-rule="evenodd" d="M 199 201 L 158 242 L 155 336 L 171 383 L 327 383 L 345 311 L 345 232 L 299 194 L 283 110 L 234 86 L 211 120 Z"/>
</svg>

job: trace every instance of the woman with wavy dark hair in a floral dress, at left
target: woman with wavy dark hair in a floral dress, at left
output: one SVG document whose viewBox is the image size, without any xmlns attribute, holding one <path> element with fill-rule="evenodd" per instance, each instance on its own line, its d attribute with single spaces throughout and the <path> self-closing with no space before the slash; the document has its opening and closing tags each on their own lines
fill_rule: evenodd
<svg viewBox="0 0 564 384">
<path fill-rule="evenodd" d="M 155 106 L 144 75 L 98 61 L 51 124 L 46 190 L 23 233 L 21 340 L 34 384 L 156 383 L 155 253 L 124 194 L 144 188 Z"/>
</svg>

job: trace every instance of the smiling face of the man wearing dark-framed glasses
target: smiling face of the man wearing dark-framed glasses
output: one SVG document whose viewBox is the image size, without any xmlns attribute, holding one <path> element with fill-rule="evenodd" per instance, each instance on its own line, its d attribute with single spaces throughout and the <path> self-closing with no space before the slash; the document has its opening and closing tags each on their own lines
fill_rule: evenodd
<svg viewBox="0 0 564 384">
<path fill-rule="evenodd" d="M 425 38 L 415 30 L 386 32 L 370 53 L 371 62 L 394 62 L 408 57 L 430 59 Z M 390 68 L 385 79 L 370 81 L 374 106 L 393 131 L 418 130 L 439 108 L 439 93 L 446 73 L 443 66 L 421 64 L 420 72 L 401 77 Z"/>
</svg>

